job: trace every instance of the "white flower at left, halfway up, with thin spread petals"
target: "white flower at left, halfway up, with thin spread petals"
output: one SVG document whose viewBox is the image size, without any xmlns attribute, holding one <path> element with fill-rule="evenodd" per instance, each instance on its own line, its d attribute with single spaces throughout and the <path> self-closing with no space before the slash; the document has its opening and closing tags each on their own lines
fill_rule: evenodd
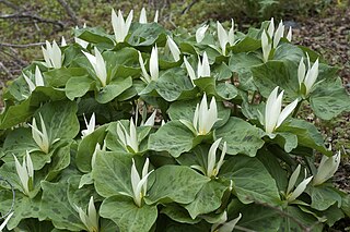
<svg viewBox="0 0 350 232">
<path fill-rule="evenodd" d="M 39 114 L 39 117 L 40 117 L 42 131 L 38 130 L 36 125 L 36 120 L 35 118 L 33 118 L 32 125 L 30 124 L 30 126 L 32 127 L 32 136 L 35 143 L 37 144 L 37 146 L 40 148 L 40 150 L 44 151 L 45 154 L 48 154 L 49 146 L 50 146 L 49 137 L 48 137 L 47 130 L 46 130 L 45 122 L 43 120 L 42 114 Z"/>
</svg>

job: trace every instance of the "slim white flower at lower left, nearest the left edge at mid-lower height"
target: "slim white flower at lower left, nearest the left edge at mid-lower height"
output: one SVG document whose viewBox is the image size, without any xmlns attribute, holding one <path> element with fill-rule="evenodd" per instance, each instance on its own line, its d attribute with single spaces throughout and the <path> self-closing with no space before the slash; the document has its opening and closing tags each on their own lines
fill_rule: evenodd
<svg viewBox="0 0 350 232">
<path fill-rule="evenodd" d="M 30 152 L 26 150 L 26 156 L 23 157 L 23 164 L 21 166 L 18 158 L 13 155 L 15 162 L 15 170 L 21 180 L 23 193 L 30 195 L 30 192 L 34 184 L 34 168 Z"/>
</svg>

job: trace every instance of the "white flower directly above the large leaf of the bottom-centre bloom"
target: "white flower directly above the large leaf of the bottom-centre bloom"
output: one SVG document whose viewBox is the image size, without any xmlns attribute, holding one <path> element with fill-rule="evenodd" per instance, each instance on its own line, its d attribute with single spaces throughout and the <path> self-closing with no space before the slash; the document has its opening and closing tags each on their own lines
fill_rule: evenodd
<svg viewBox="0 0 350 232">
<path fill-rule="evenodd" d="M 138 135 L 132 118 L 130 119 L 129 132 L 124 127 L 124 125 L 120 122 L 117 123 L 117 135 L 119 137 L 120 143 L 124 145 L 127 151 L 130 151 L 130 149 L 131 152 L 139 151 Z"/>
</svg>

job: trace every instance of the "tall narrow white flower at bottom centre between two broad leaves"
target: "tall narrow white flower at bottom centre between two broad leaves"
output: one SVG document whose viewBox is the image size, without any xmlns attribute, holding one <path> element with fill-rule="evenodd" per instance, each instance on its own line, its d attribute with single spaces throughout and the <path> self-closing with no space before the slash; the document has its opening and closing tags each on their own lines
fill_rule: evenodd
<svg viewBox="0 0 350 232">
<path fill-rule="evenodd" d="M 145 162 L 143 164 L 142 179 L 140 178 L 139 172 L 136 169 L 135 160 L 132 159 L 132 167 L 131 167 L 131 186 L 132 186 L 132 193 L 133 193 L 132 198 L 135 204 L 138 207 L 141 207 L 142 198 L 147 194 L 148 178 L 154 170 L 150 172 L 148 171 L 149 171 L 149 158 L 145 159 Z"/>
</svg>

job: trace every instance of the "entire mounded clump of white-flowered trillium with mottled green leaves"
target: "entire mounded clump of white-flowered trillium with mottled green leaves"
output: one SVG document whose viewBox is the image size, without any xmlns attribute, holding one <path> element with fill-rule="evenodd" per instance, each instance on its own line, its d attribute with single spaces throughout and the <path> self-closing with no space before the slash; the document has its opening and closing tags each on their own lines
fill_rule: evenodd
<svg viewBox="0 0 350 232">
<path fill-rule="evenodd" d="M 322 231 L 349 217 L 330 181 L 341 154 L 298 118 L 302 103 L 325 120 L 350 110 L 337 69 L 273 19 L 196 35 L 156 21 L 113 11 L 114 35 L 78 28 L 10 83 L 1 227 Z"/>
</svg>

